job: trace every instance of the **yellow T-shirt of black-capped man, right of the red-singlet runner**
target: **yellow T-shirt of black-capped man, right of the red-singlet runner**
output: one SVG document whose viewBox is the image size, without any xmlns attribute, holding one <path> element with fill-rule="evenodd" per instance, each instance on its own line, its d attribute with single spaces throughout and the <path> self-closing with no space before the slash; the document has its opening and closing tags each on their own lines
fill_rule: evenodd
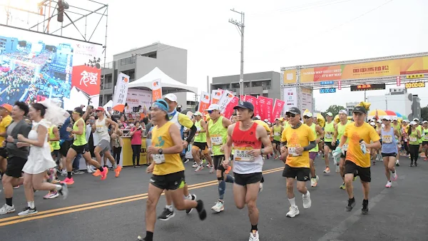
<svg viewBox="0 0 428 241">
<path fill-rule="evenodd" d="M 311 141 L 315 141 L 317 136 L 307 125 L 300 125 L 299 128 L 293 129 L 288 125 L 282 131 L 281 142 L 287 142 L 288 155 L 285 164 L 292 168 L 309 168 L 309 151 L 303 151 L 302 155 L 295 153 L 295 148 L 305 147 Z"/>
</svg>

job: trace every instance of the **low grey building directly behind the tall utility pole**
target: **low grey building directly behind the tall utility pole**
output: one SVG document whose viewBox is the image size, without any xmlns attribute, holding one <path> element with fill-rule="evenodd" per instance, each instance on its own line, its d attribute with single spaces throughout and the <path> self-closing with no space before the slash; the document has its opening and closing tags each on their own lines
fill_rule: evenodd
<svg viewBox="0 0 428 241">
<path fill-rule="evenodd" d="M 239 75 L 213 77 L 211 90 L 221 88 L 239 94 Z M 280 73 L 275 71 L 244 74 L 244 94 L 281 99 Z"/>
</svg>

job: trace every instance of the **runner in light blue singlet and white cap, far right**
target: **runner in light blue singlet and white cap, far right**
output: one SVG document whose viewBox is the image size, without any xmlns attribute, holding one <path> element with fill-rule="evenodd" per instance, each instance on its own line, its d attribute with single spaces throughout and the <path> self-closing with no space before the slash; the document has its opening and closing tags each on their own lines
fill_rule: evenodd
<svg viewBox="0 0 428 241">
<path fill-rule="evenodd" d="M 382 158 L 385 166 L 385 175 L 387 176 L 388 180 L 387 185 L 385 185 L 385 187 L 391 188 L 391 173 L 392 180 L 397 180 L 397 172 L 395 170 L 395 158 L 397 157 L 398 153 L 398 139 L 396 139 L 395 137 L 399 136 L 399 133 L 397 130 L 392 128 L 391 118 L 389 118 L 389 116 L 385 116 L 384 118 L 382 118 L 382 122 L 384 124 L 384 127 L 377 130 L 377 134 L 379 134 L 379 136 L 382 136 Z"/>
</svg>

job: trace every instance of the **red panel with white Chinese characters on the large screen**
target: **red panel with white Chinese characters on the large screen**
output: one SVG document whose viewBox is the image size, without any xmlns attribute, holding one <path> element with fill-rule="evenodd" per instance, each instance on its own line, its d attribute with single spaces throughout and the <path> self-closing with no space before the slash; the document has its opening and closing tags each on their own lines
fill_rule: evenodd
<svg viewBox="0 0 428 241">
<path fill-rule="evenodd" d="M 91 66 L 73 66 L 71 87 L 79 88 L 89 96 L 100 94 L 101 69 Z"/>
</svg>

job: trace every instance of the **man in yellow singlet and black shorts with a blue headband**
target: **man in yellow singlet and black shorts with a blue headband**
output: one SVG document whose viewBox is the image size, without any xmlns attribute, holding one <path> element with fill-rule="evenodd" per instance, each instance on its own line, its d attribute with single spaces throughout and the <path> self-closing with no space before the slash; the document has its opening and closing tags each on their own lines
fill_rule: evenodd
<svg viewBox="0 0 428 241">
<path fill-rule="evenodd" d="M 153 163 L 146 172 L 153 173 L 148 185 L 146 202 L 146 237 L 138 240 L 153 240 L 156 222 L 156 205 L 163 190 L 168 190 L 177 210 L 196 208 L 200 220 L 205 220 L 207 213 L 202 200 L 183 199 L 184 165 L 180 158 L 183 151 L 183 140 L 180 130 L 173 122 L 168 121 L 168 103 L 159 99 L 151 106 L 151 118 L 156 123 L 152 130 L 152 145 L 147 148 L 147 154 L 152 155 Z"/>
</svg>

